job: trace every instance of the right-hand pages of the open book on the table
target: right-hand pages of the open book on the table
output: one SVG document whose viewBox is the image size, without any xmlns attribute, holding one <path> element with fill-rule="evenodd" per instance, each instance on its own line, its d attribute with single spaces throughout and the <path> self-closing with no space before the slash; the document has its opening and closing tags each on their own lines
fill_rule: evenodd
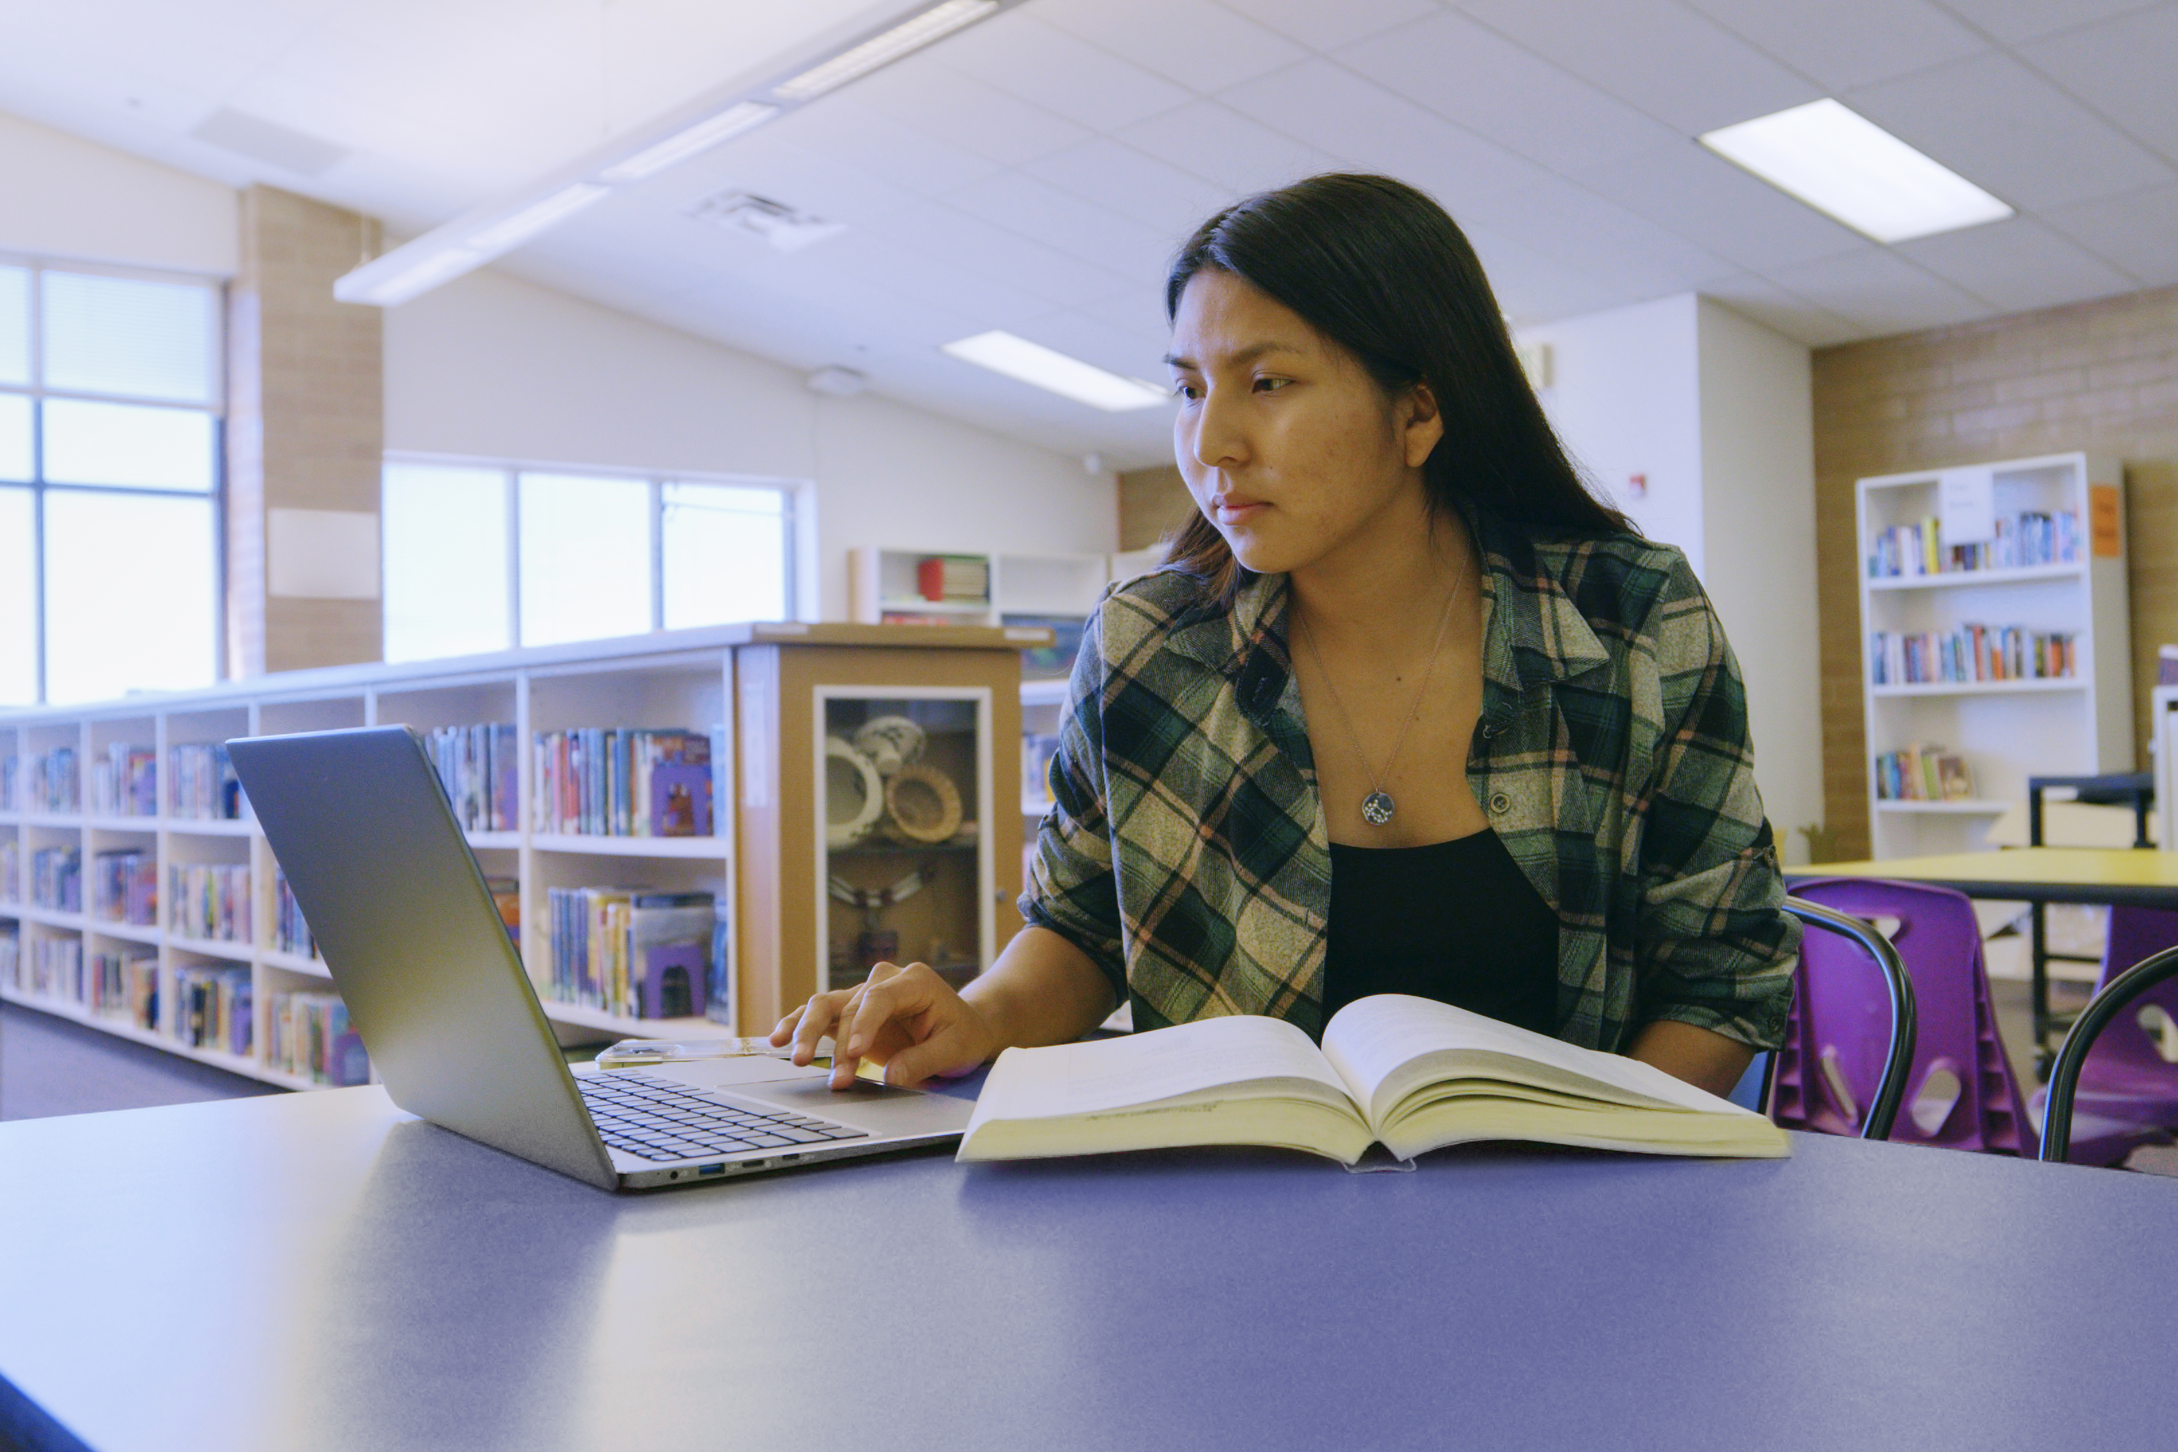
<svg viewBox="0 0 2178 1452">
<path fill-rule="evenodd" d="M 1342 1008 L 1324 1030 L 1324 1058 L 1368 1110 L 1379 1139 L 1385 1115 L 1407 1093 L 1448 1075 L 1509 1080 L 1627 1106 L 1747 1112 L 1623 1054 L 1581 1049 L 1405 993 L 1379 993 Z"/>
</svg>

